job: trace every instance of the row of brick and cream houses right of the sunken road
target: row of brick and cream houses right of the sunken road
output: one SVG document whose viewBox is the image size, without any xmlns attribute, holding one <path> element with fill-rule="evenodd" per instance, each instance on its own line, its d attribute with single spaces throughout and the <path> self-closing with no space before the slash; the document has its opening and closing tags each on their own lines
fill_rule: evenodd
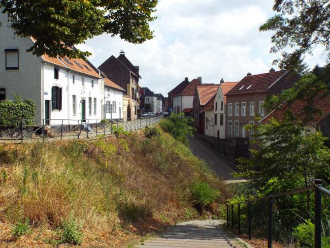
<svg viewBox="0 0 330 248">
<path fill-rule="evenodd" d="M 169 109 L 193 117 L 193 126 L 197 132 L 210 140 L 221 154 L 235 160 L 237 157 L 249 156 L 249 139 L 254 131 L 246 130 L 246 125 L 253 123 L 256 126 L 259 120 L 264 122 L 270 116 L 278 116 L 278 111 L 267 112 L 264 106 L 266 99 L 292 87 L 299 79 L 299 74 L 275 71 L 273 68 L 257 75 L 247 73 L 236 82 L 221 79 L 219 84 L 202 83 L 201 77 L 192 81 L 185 78 L 169 92 Z M 329 100 L 323 99 L 321 103 L 320 110 L 330 119 Z M 293 105 L 292 108 L 303 111 L 299 105 Z M 325 128 L 330 127 L 329 121 L 325 125 L 324 116 L 318 121 L 307 123 L 309 126 L 306 126 L 306 132 L 321 130 L 330 137 L 330 128 Z"/>
</svg>

